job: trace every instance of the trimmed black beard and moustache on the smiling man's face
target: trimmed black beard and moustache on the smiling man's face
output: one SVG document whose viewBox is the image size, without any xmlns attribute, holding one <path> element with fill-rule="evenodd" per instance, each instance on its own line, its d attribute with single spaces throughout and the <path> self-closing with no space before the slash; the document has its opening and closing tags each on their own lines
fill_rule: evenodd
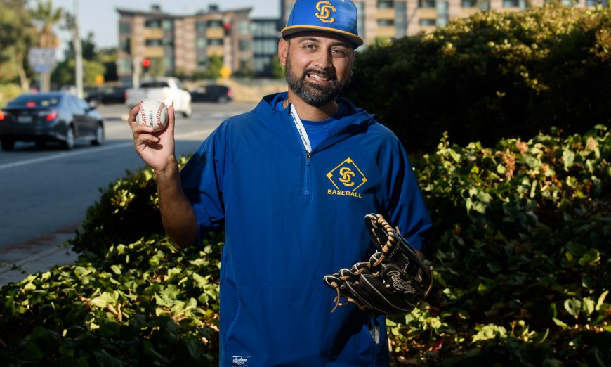
<svg viewBox="0 0 611 367">
<path fill-rule="evenodd" d="M 329 77 L 331 84 L 323 86 L 306 82 L 306 77 L 310 72 L 317 72 L 325 77 Z M 333 101 L 337 96 L 341 95 L 343 90 L 343 86 L 337 81 L 336 75 L 325 70 L 307 69 L 301 77 L 298 77 L 291 71 L 291 63 L 288 58 L 287 65 L 284 68 L 284 79 L 287 79 L 287 84 L 289 84 L 291 91 L 308 103 L 308 105 L 314 107 L 320 107 Z"/>
</svg>

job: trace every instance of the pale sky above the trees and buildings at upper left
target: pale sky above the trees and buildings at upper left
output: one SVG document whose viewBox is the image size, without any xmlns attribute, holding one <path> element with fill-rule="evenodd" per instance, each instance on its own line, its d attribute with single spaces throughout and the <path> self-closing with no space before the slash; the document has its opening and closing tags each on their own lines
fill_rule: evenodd
<svg viewBox="0 0 611 367">
<path fill-rule="evenodd" d="M 277 18 L 280 16 L 280 0 L 51 0 L 55 8 L 61 6 L 65 11 L 74 13 L 78 3 L 79 32 L 81 38 L 93 32 L 96 48 L 117 46 L 119 36 L 119 13 L 115 9 L 126 8 L 148 11 L 152 4 L 161 6 L 164 13 L 182 15 L 199 10 L 207 10 L 209 4 L 218 4 L 221 11 L 236 8 L 252 8 L 251 18 Z M 58 30 L 62 41 L 60 49 L 65 48 L 70 34 Z M 63 54 L 63 53 L 62 53 Z"/>
</svg>

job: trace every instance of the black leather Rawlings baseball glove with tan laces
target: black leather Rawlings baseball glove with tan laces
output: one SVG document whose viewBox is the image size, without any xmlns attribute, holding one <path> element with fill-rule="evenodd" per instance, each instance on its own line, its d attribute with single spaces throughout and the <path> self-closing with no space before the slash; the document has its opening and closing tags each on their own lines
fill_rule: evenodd
<svg viewBox="0 0 611 367">
<path fill-rule="evenodd" d="M 374 314 L 408 314 L 431 290 L 432 268 L 423 264 L 414 248 L 381 214 L 367 214 L 365 226 L 378 251 L 369 261 L 324 276 L 324 283 L 337 292 L 331 312 L 352 302 Z"/>
</svg>

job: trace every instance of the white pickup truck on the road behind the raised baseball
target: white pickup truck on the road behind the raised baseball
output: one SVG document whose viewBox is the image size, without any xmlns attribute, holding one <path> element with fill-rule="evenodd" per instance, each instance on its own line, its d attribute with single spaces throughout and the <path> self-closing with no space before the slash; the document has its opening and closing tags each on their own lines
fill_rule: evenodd
<svg viewBox="0 0 611 367">
<path fill-rule="evenodd" d="M 175 77 L 145 78 L 140 87 L 125 91 L 125 104 L 130 108 L 145 99 L 164 102 L 168 106 L 173 104 L 175 113 L 182 113 L 184 117 L 191 115 L 191 94 Z"/>
</svg>

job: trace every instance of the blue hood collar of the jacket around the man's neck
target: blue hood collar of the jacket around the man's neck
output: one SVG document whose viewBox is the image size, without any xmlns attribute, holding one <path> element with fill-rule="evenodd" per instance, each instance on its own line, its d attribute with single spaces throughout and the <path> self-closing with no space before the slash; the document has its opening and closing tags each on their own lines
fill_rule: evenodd
<svg viewBox="0 0 611 367">
<path fill-rule="evenodd" d="M 281 111 L 275 110 L 277 103 L 284 101 L 288 97 L 288 92 L 265 96 L 252 112 L 258 120 L 261 120 L 263 124 L 267 125 L 283 139 L 294 139 L 297 143 L 301 143 L 298 139 L 295 139 L 296 130 L 294 122 L 292 122 L 290 117 L 290 110 L 288 108 Z M 376 123 L 374 115 L 369 114 L 362 108 L 355 107 L 348 99 L 337 98 L 336 102 L 347 107 L 348 114 L 341 117 L 337 126 L 331 131 L 331 134 L 329 134 L 330 138 L 315 150 L 327 148 L 328 146 L 346 139 L 348 136 L 367 131 L 370 125 Z M 301 149 L 303 149 L 303 147 L 300 146 L 300 150 Z"/>
</svg>

